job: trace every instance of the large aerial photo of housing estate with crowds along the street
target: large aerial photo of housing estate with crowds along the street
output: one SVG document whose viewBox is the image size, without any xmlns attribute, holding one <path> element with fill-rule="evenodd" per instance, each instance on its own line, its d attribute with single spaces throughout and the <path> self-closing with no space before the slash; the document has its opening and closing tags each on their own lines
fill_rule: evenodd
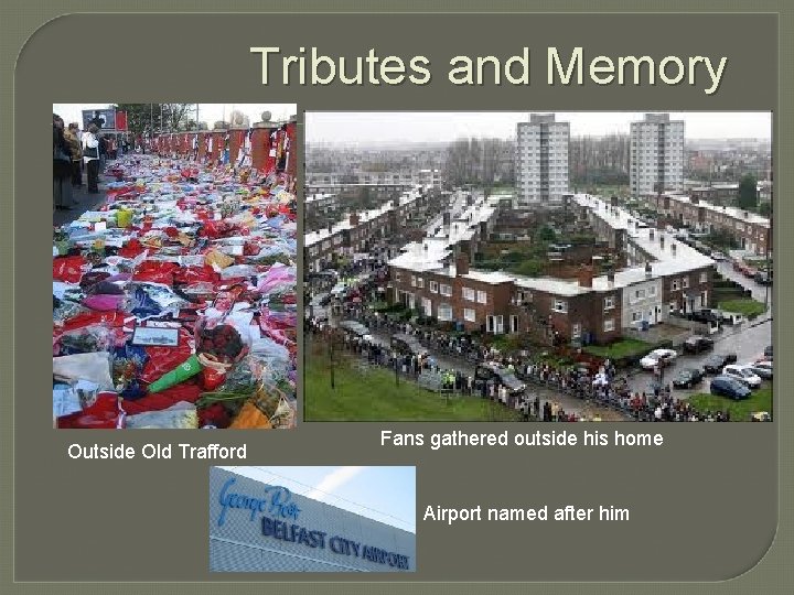
<svg viewBox="0 0 794 595">
<path fill-rule="evenodd" d="M 772 419 L 770 113 L 305 134 L 307 421 Z"/>
</svg>

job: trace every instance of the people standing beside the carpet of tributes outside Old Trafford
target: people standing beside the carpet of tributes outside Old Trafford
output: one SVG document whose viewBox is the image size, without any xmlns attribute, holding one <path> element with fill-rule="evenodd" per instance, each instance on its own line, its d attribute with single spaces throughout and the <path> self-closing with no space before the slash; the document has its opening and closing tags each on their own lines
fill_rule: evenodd
<svg viewBox="0 0 794 595">
<path fill-rule="evenodd" d="M 83 187 L 89 194 L 99 193 L 99 172 L 108 160 L 116 160 L 132 148 L 128 136 L 101 133 L 96 123 L 81 132 L 79 125 L 65 126 L 61 116 L 53 113 L 53 207 L 73 210 L 78 205 L 74 188 Z"/>
</svg>

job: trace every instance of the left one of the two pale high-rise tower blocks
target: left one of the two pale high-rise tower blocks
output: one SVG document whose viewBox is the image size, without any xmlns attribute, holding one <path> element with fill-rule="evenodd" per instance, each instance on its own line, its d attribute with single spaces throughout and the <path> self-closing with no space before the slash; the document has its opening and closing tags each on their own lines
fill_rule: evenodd
<svg viewBox="0 0 794 595">
<path fill-rule="evenodd" d="M 568 194 L 569 122 L 554 113 L 533 113 L 516 127 L 516 186 L 518 205 L 558 203 Z"/>
</svg>

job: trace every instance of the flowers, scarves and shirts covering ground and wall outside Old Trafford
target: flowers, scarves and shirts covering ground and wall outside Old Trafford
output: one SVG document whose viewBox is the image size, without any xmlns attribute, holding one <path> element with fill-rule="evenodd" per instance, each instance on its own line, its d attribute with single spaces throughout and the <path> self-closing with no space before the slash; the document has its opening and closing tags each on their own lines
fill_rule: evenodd
<svg viewBox="0 0 794 595">
<path fill-rule="evenodd" d="M 294 428 L 297 121 L 261 120 L 69 130 L 105 150 L 54 212 L 55 428 Z"/>
</svg>

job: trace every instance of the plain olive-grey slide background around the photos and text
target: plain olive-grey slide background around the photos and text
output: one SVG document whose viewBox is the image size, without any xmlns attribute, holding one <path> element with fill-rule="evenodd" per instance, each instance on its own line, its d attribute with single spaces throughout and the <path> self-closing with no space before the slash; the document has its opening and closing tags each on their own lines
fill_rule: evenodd
<svg viewBox="0 0 794 595">
<path fill-rule="evenodd" d="M 775 378 L 771 424 L 624 424 L 620 430 L 665 435 L 655 450 L 382 448 L 382 428 L 426 434 L 458 428 L 498 431 L 500 424 L 301 424 L 293 432 L 55 432 L 50 416 L 50 165 L 53 102 L 297 102 L 312 109 L 523 110 L 775 110 L 775 252 L 786 255 L 792 225 L 792 10 L 783 2 L 668 2 L 669 10 L 764 11 L 766 14 L 481 14 L 588 11 L 589 2 L 459 4 L 469 14 L 430 13 L 447 3 L 405 2 L 414 14 L 339 2 L 238 2 L 259 14 L 72 14 L 108 12 L 108 3 L 6 2 L 2 34 L 2 394 L 0 418 L 0 574 L 14 592 L 299 593 L 637 593 L 790 592 L 792 581 L 792 372 Z M 659 10 L 647 2 L 646 8 Z M 132 8 L 135 7 L 135 8 Z M 600 2 L 637 11 L 639 2 Z M 268 10 L 270 8 L 270 10 Z M 221 11 L 210 2 L 130 3 L 127 10 Z M 773 14 L 785 10 L 781 14 Z M 42 26 L 44 25 L 44 26 Z M 84 41 L 90 34 L 90 43 Z M 780 43 L 780 45 L 779 45 Z M 23 47 L 24 45 L 24 47 Z M 431 60 L 426 86 L 260 85 L 249 46 L 329 55 Z M 455 54 L 507 57 L 528 45 L 533 85 L 453 87 L 447 62 Z M 586 57 L 668 54 L 727 55 L 718 94 L 700 86 L 549 87 L 545 50 L 584 47 Z M 21 53 L 20 53 L 21 52 Z M 19 55 L 19 60 L 17 56 Z M 785 97 L 786 100 L 781 100 Z M 12 109 L 13 107 L 13 109 Z M 780 109 L 779 109 L 780 108 Z M 301 113 L 302 115 L 302 113 Z M 302 118 L 301 118 L 302 121 Z M 13 140 L 12 140 L 13 139 Z M 782 199 L 781 199 L 782 198 Z M 775 304 L 792 289 L 791 264 L 779 257 Z M 13 282 L 12 282 L 13 280 Z M 775 312 L 777 357 L 792 361 L 791 311 Z M 783 332 L 781 332 L 783 331 Z M 13 334 L 12 334 L 13 333 Z M 513 425 L 512 431 L 533 426 Z M 618 426 L 601 424 L 601 430 Z M 580 426 L 566 428 L 582 433 Z M 627 523 L 417 522 L 419 572 L 395 578 L 351 575 L 211 575 L 207 572 L 206 473 L 222 462 L 74 462 L 73 442 L 140 446 L 248 444 L 246 465 L 417 465 L 417 509 L 427 505 L 533 507 L 543 504 L 631 507 Z M 597 526 L 593 526 L 597 524 Z M 734 578 L 738 577 L 738 578 Z M 30 582 L 10 584 L 11 581 Z M 43 582 L 62 582 L 42 584 Z M 108 586 L 97 582 L 147 582 Z M 153 582 L 181 584 L 154 585 Z M 235 585 L 198 582 L 246 581 Z M 293 582 L 294 581 L 294 582 Z M 300 581 L 300 582 L 298 582 Z M 305 584 L 307 581 L 328 584 Z M 346 584 L 341 584 L 341 582 Z M 366 582 L 378 582 L 373 585 Z M 390 581 L 385 583 L 385 581 Z M 559 583 L 527 584 L 537 581 Z M 568 581 L 568 583 L 566 583 Z M 570 583 L 570 582 L 573 583 Z M 583 581 L 597 581 L 583 584 Z M 610 581 L 663 583 L 611 584 Z M 704 583 L 664 583 L 704 581 Z M 39 583 L 35 583 L 39 582 Z M 69 582 L 66 584 L 65 582 Z M 93 584 L 74 584 L 90 582 Z M 250 584 L 270 582 L 271 584 Z M 340 582 L 340 584 L 333 584 Z M 498 585 L 479 582 L 502 583 Z M 34 584 L 35 583 L 35 584 Z M 276 584 L 278 583 L 278 584 Z M 418 584 L 417 584 L 418 583 Z M 429 583 L 436 583 L 433 585 Z M 512 583 L 512 584 L 508 584 Z M 517 584 L 522 583 L 522 584 Z M 8 591 L 4 591 L 8 592 Z"/>
</svg>

